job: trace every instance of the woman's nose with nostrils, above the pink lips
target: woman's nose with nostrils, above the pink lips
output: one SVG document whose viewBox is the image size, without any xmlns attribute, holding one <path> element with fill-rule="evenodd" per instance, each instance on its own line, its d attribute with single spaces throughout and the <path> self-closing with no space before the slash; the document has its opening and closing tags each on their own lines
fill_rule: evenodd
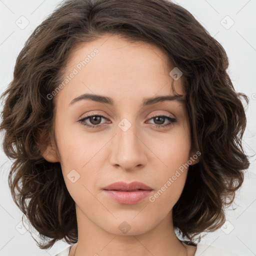
<svg viewBox="0 0 256 256">
<path fill-rule="evenodd" d="M 111 140 L 110 164 L 116 168 L 133 170 L 145 166 L 146 145 L 142 136 L 132 124 L 127 130 L 116 127 L 116 134 Z"/>
</svg>

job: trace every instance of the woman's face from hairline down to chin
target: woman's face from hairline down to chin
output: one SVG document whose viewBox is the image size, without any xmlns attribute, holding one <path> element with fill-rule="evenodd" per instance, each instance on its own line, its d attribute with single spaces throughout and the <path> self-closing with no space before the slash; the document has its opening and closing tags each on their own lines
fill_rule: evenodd
<svg viewBox="0 0 256 256">
<path fill-rule="evenodd" d="M 185 104 L 148 100 L 173 95 L 170 71 L 160 49 L 118 36 L 73 50 L 53 98 L 60 158 L 49 147 L 44 157 L 60 161 L 78 221 L 115 234 L 144 233 L 170 222 L 187 175 L 182 164 L 192 156 Z M 174 86 L 184 98 L 181 78 Z M 139 181 L 152 190 L 103 190 L 116 181 Z"/>
</svg>

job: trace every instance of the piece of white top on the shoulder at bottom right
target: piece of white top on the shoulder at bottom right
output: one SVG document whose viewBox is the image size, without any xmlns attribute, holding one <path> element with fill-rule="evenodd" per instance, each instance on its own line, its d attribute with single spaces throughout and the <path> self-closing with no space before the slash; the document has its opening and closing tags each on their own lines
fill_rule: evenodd
<svg viewBox="0 0 256 256">
<path fill-rule="evenodd" d="M 194 256 L 238 256 L 222 248 L 218 248 L 209 244 L 197 243 Z"/>
</svg>

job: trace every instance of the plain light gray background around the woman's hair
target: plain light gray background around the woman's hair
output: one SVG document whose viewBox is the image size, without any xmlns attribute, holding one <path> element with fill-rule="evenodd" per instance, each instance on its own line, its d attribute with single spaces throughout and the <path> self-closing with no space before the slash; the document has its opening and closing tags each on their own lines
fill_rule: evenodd
<svg viewBox="0 0 256 256">
<path fill-rule="evenodd" d="M 0 93 L 12 79 L 15 59 L 25 40 L 59 2 L 0 0 Z M 230 63 L 228 72 L 234 87 L 250 98 L 243 144 L 247 154 L 255 154 L 256 0 L 177 0 L 176 3 L 189 10 L 225 48 Z M 19 27 L 26 22 L 20 17 L 22 15 L 29 21 L 25 28 L 21 27 L 23 29 Z M 234 24 L 231 26 L 232 22 Z M 228 222 L 203 238 L 204 243 L 249 256 L 256 255 L 255 156 L 250 158 L 250 162 L 244 183 L 233 204 L 236 209 L 227 210 Z M 0 149 L 0 255 L 54 255 L 67 244 L 61 241 L 50 250 L 41 250 L 30 233 L 20 225 L 22 213 L 12 201 L 7 183 L 10 164 L 11 161 Z M 17 230 L 26 232 L 21 234 Z M 37 237 L 36 233 L 34 237 Z"/>
</svg>

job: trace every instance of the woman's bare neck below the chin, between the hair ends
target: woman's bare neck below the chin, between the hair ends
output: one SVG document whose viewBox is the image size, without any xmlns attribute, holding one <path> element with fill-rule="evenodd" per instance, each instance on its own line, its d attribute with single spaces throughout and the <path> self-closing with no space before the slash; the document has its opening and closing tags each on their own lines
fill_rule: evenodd
<svg viewBox="0 0 256 256">
<path fill-rule="evenodd" d="M 141 233 L 139 230 L 128 235 L 108 232 L 90 221 L 76 205 L 78 242 L 70 256 L 116 255 L 169 255 L 186 256 L 186 247 L 176 237 L 172 225 L 172 212 L 152 229 Z M 123 221 L 119 221 L 120 223 Z M 118 223 L 118 221 L 117 221 Z M 124 224 L 125 225 L 125 224 Z M 131 228 L 130 228 L 131 231 Z"/>
</svg>

